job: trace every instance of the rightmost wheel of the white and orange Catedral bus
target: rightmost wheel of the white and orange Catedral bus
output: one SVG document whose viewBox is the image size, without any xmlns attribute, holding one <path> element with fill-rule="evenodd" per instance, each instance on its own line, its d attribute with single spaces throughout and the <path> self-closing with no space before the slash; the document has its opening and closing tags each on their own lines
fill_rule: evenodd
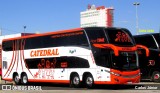
<svg viewBox="0 0 160 93">
<path fill-rule="evenodd" d="M 93 88 L 94 86 L 94 79 L 91 74 L 87 74 L 84 78 L 84 84 L 87 88 Z"/>
</svg>

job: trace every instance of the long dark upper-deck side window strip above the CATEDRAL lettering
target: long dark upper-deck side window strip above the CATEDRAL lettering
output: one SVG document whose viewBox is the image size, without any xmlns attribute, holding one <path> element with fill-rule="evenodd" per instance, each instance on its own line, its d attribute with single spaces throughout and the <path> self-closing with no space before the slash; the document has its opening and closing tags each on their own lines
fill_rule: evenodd
<svg viewBox="0 0 160 93">
<path fill-rule="evenodd" d="M 85 46 L 88 41 L 83 31 L 62 34 L 47 35 L 26 39 L 25 49 L 46 48 L 57 46 Z"/>
</svg>

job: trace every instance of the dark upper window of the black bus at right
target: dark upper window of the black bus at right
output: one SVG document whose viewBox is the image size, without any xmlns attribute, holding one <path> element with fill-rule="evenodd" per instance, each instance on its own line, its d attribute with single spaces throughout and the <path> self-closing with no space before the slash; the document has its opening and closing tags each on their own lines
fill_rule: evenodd
<svg viewBox="0 0 160 93">
<path fill-rule="evenodd" d="M 148 48 L 157 49 L 156 43 L 151 35 L 136 36 L 135 41 L 137 44 L 142 44 Z"/>
</svg>

